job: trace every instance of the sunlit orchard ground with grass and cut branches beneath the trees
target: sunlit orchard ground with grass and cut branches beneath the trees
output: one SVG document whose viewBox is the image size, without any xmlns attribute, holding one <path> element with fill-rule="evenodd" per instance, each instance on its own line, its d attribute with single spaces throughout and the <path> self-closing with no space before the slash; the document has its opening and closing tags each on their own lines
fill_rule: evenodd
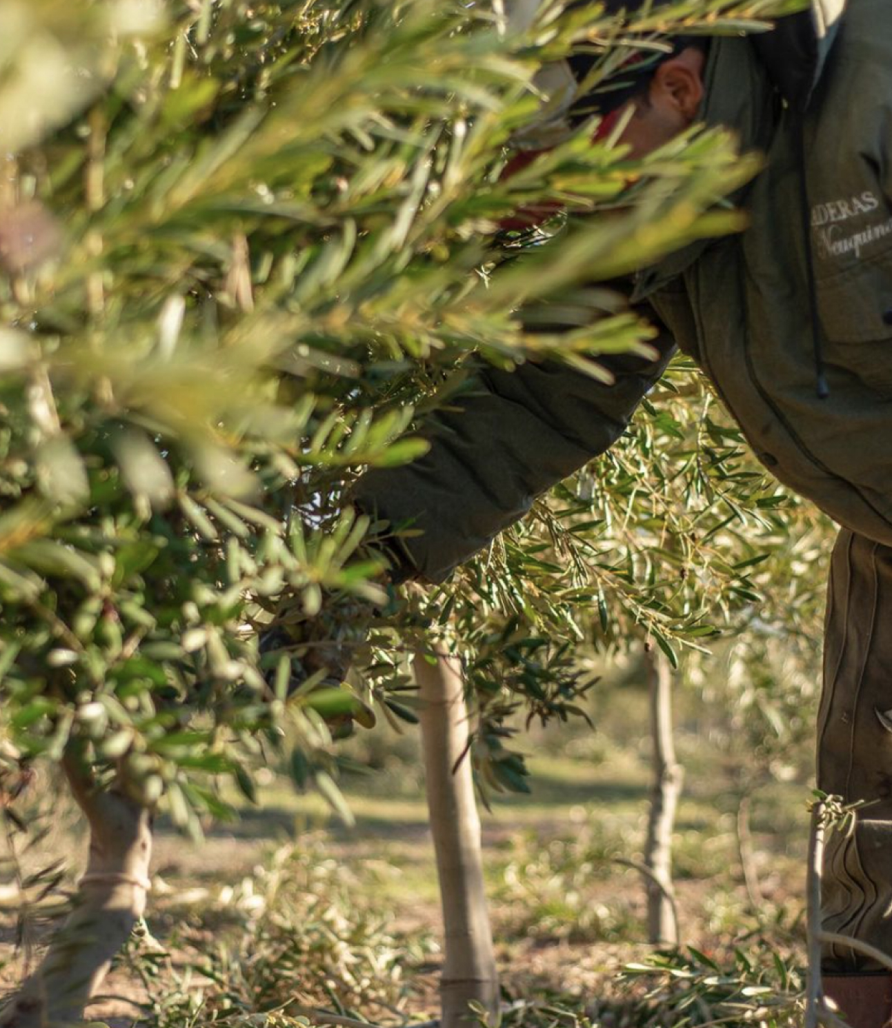
<svg viewBox="0 0 892 1028">
<path fill-rule="evenodd" d="M 733 1024 L 735 1003 L 741 1024 L 753 1017 L 793 1023 L 782 1011 L 775 1022 L 759 1017 L 758 1003 L 761 988 L 792 996 L 800 984 L 787 971 L 802 963 L 806 747 L 765 776 L 721 730 L 724 711 L 682 697 L 677 903 L 682 944 L 707 962 L 683 950 L 668 958 L 664 976 L 623 978 L 626 965 L 655 951 L 646 944 L 642 876 L 623 862 L 640 859 L 645 838 L 646 698 L 611 688 L 596 697 L 593 712 L 594 730 L 555 726 L 526 739 L 531 794 L 497 795 L 491 811 L 481 810 L 502 984 L 511 1000 L 539 1003 L 505 1024 Z M 259 804 L 243 806 L 234 823 L 209 825 L 204 844 L 160 819 L 150 937 L 134 940 L 94 1019 L 112 1028 L 241 1028 L 265 1024 L 252 1016 L 274 1008 L 293 1017 L 324 1007 L 380 1025 L 436 1016 L 439 908 L 416 733 L 383 729 L 348 743 L 345 755 L 356 762 L 342 777 L 355 827 L 273 770 Z M 745 796 L 750 832 L 742 839 Z M 82 849 L 73 809 L 64 809 L 47 838 L 22 856 L 26 872 Z M 745 882 L 742 846 L 757 891 L 752 874 Z M 74 861 L 65 868 L 70 883 L 78 869 Z M 16 893 L 4 891 L 0 959 L 11 986 L 23 958 L 14 946 Z M 753 961 L 740 981 L 732 981 L 741 970 L 735 951 L 744 966 Z M 709 960 L 712 978 L 728 980 L 718 993 Z M 684 989 L 691 1001 L 678 1014 Z M 730 1006 L 716 1005 L 716 995 Z"/>
</svg>

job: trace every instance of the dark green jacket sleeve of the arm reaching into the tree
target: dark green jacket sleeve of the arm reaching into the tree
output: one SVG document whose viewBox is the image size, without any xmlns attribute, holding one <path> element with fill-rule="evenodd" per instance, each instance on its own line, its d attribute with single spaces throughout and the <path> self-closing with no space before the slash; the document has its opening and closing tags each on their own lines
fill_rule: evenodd
<svg viewBox="0 0 892 1028">
<path fill-rule="evenodd" d="M 352 493 L 360 510 L 420 529 L 400 540 L 403 577 L 442 581 L 536 495 L 608 449 L 669 363 L 668 334 L 653 344 L 655 361 L 600 359 L 615 376 L 609 386 L 554 362 L 480 369 L 422 427 L 424 456 L 362 476 Z"/>
</svg>

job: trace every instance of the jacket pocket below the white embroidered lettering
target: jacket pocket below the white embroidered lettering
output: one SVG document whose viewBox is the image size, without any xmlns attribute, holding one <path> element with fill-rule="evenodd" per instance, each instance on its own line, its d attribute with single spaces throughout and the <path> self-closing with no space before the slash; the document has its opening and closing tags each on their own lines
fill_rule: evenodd
<svg viewBox="0 0 892 1028">
<path fill-rule="evenodd" d="M 892 399 L 892 248 L 818 282 L 825 360 Z"/>
</svg>

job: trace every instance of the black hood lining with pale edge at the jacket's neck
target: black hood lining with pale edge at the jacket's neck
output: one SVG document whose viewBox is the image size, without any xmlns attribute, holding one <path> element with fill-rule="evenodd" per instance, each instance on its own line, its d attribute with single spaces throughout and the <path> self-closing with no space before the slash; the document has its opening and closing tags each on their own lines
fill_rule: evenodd
<svg viewBox="0 0 892 1028">
<path fill-rule="evenodd" d="M 847 0 L 812 0 L 808 10 L 778 21 L 752 43 L 769 78 L 794 108 L 805 110 L 821 77 Z"/>
</svg>

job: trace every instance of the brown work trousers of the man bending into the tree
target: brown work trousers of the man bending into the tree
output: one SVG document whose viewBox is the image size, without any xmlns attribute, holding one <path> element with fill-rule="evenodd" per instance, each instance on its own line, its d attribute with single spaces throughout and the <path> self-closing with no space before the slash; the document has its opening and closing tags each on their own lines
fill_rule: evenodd
<svg viewBox="0 0 892 1028">
<path fill-rule="evenodd" d="M 892 548 L 840 533 L 826 619 L 818 787 L 865 807 L 849 838 L 828 836 L 822 918 L 825 929 L 892 955 Z M 824 966 L 879 964 L 831 946 Z"/>
</svg>

